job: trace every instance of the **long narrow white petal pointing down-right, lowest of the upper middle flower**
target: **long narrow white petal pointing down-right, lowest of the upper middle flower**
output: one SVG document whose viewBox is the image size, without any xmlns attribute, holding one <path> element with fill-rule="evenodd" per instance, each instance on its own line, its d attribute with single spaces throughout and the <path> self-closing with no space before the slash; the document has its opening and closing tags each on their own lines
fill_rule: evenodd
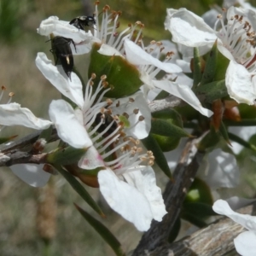
<svg viewBox="0 0 256 256">
<path fill-rule="evenodd" d="M 201 102 L 198 100 L 195 93 L 189 88 L 189 86 L 168 80 L 153 80 L 152 82 L 155 87 L 158 87 L 161 90 L 166 90 L 170 94 L 183 99 L 184 102 L 189 103 L 191 107 L 195 108 L 201 114 L 206 115 L 207 117 L 212 116 L 212 111 L 202 107 Z"/>
</svg>

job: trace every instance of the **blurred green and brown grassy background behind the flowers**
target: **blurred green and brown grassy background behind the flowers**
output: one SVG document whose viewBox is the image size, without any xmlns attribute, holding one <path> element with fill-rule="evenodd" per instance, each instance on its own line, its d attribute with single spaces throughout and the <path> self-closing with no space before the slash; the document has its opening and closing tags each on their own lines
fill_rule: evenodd
<svg viewBox="0 0 256 256">
<path fill-rule="evenodd" d="M 256 1 L 251 1 L 256 6 Z M 121 27 L 141 20 L 145 24 L 146 40 L 171 39 L 164 29 L 166 8 L 185 7 L 197 15 L 222 1 L 172 0 L 112 0 L 101 1 L 100 9 L 109 4 L 121 10 Z M 29 108 L 38 116 L 48 119 L 49 102 L 60 94 L 44 79 L 35 65 L 38 51 L 49 58 L 50 43 L 37 34 L 41 20 L 56 15 L 60 20 L 72 20 L 79 15 L 92 15 L 93 1 L 79 0 L 1 0 L 0 1 L 0 84 L 7 90 L 1 103 L 8 101 L 8 93 L 15 93 L 13 102 Z M 84 56 L 75 57 L 76 66 L 86 78 Z M 23 137 L 32 130 L 5 128 L 1 136 Z M 167 180 L 157 173 L 158 184 L 164 188 Z M 88 188 L 103 212 L 108 216 L 103 223 L 113 232 L 126 252 L 137 246 L 142 236 L 132 224 L 114 213 L 102 200 L 98 189 Z M 79 198 L 69 184 L 58 175 L 43 189 L 29 187 L 8 168 L 0 172 L 0 255 L 114 255 L 110 247 L 90 228 L 73 202 L 88 212 L 90 208 Z M 93 216 L 96 213 L 91 212 Z"/>
</svg>

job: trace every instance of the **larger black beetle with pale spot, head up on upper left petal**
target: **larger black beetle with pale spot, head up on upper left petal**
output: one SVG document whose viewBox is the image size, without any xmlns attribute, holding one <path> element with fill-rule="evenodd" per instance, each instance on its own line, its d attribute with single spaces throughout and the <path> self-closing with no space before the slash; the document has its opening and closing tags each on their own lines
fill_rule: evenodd
<svg viewBox="0 0 256 256">
<path fill-rule="evenodd" d="M 67 77 L 71 80 L 71 72 L 73 70 L 73 54 L 70 44 L 73 44 L 74 48 L 76 46 L 71 38 L 55 37 L 52 39 L 52 49 L 50 52 L 55 53 L 57 65 L 58 61 L 61 61 L 61 66 L 64 69 L 64 72 L 67 74 Z"/>
</svg>

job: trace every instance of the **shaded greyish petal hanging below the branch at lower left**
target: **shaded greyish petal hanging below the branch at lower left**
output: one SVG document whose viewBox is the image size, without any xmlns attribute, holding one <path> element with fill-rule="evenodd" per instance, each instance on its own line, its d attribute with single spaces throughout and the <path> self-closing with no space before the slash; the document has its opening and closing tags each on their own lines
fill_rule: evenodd
<svg viewBox="0 0 256 256">
<path fill-rule="evenodd" d="M 44 165 L 34 164 L 20 164 L 10 166 L 9 168 L 15 173 L 21 180 L 28 183 L 32 187 L 44 187 L 49 181 L 50 174 L 44 172 Z"/>
</svg>

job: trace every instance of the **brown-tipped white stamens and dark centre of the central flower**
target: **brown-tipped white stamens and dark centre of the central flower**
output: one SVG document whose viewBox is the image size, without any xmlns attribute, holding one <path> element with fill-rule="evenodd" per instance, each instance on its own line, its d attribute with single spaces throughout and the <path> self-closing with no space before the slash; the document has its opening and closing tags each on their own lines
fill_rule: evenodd
<svg viewBox="0 0 256 256">
<path fill-rule="evenodd" d="M 84 126 L 98 154 L 101 155 L 104 165 L 117 174 L 127 172 L 127 170 L 140 170 L 143 168 L 139 166 L 141 163 L 152 166 L 154 164 L 152 152 L 143 153 L 140 141 L 127 135 L 132 127 L 144 119 L 140 115 L 137 121 L 130 125 L 129 119 L 138 114 L 137 108 L 128 108 L 134 99 L 130 98 L 128 102 L 122 104 L 117 102 L 112 108 L 113 102 L 110 99 L 102 102 L 102 97 L 110 90 L 109 88 L 97 96 L 104 89 L 104 84 L 108 84 L 105 80 L 107 77 L 102 76 L 94 93 L 92 93 L 93 78 L 95 75 L 89 80 L 84 94 Z M 120 114 L 118 108 L 125 108 L 129 110 L 129 113 Z"/>
</svg>

